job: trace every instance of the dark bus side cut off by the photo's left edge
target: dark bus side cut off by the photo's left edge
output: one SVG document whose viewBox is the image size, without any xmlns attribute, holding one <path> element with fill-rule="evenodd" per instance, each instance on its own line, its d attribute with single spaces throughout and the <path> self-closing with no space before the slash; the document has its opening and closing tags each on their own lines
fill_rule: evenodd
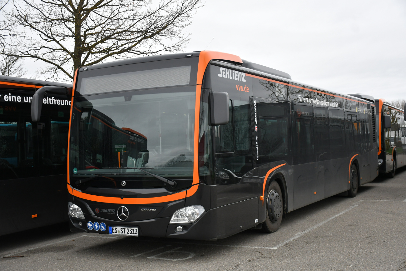
<svg viewBox="0 0 406 271">
<path fill-rule="evenodd" d="M 66 167 L 71 101 L 47 95 L 31 120 L 32 96 L 43 86 L 72 85 L 0 76 L 0 235 L 67 221 Z"/>
</svg>

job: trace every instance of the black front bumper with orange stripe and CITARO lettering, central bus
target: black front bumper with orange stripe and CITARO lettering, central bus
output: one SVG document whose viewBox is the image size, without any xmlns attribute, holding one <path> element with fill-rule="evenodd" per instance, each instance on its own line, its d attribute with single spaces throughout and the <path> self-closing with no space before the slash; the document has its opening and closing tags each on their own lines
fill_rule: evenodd
<svg viewBox="0 0 406 271">
<path fill-rule="evenodd" d="M 83 219 L 69 216 L 70 228 L 73 232 L 92 232 L 109 234 L 109 226 L 137 227 L 139 236 L 169 237 L 194 240 L 215 240 L 217 209 L 210 209 L 210 186 L 205 184 L 193 185 L 186 191 L 168 196 L 149 198 L 102 197 L 80 192 L 68 184 L 71 194 L 70 201 L 78 205 L 83 213 Z M 189 195 L 189 196 L 188 196 Z M 106 199 L 108 198 L 108 199 Z M 97 201 L 95 199 L 103 199 Z M 170 224 L 173 213 L 181 208 L 192 205 L 202 205 L 205 212 L 193 223 Z M 121 206 L 128 209 L 129 217 L 120 221 L 117 211 Z M 104 223 L 105 230 L 89 229 L 87 223 Z M 183 230 L 178 232 L 176 228 Z M 104 227 L 103 227 L 104 228 Z M 251 228 L 251 227 L 250 227 Z M 241 230 L 246 230 L 244 228 Z M 224 236 L 226 237 L 226 236 Z"/>
</svg>

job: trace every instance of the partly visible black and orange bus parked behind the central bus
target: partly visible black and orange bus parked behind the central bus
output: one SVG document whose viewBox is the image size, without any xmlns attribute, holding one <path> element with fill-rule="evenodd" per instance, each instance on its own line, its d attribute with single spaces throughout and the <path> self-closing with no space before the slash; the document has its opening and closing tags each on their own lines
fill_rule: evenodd
<svg viewBox="0 0 406 271">
<path fill-rule="evenodd" d="M 387 103 L 384 99 L 375 100 L 378 121 L 378 160 L 379 172 L 388 173 L 393 178 L 399 167 L 406 165 L 406 122 L 404 111 Z"/>
</svg>

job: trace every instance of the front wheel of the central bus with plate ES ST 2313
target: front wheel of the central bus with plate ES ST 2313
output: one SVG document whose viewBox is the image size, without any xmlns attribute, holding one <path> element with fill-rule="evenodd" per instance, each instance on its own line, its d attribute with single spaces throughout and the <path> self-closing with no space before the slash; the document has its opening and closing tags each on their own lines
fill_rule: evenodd
<svg viewBox="0 0 406 271">
<path fill-rule="evenodd" d="M 283 217 L 283 196 L 281 187 L 276 181 L 272 181 L 266 193 L 266 219 L 262 224 L 263 232 L 276 232 L 281 226 Z"/>
</svg>

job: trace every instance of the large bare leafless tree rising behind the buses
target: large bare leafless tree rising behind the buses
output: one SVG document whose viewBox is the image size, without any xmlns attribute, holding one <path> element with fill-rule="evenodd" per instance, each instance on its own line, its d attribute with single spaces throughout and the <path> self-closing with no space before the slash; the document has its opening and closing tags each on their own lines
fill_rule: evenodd
<svg viewBox="0 0 406 271">
<path fill-rule="evenodd" d="M 54 80 L 81 66 L 182 50 L 201 0 L 9 0 L 2 54 L 47 63 Z M 13 51 L 10 51 L 13 48 Z"/>
</svg>

